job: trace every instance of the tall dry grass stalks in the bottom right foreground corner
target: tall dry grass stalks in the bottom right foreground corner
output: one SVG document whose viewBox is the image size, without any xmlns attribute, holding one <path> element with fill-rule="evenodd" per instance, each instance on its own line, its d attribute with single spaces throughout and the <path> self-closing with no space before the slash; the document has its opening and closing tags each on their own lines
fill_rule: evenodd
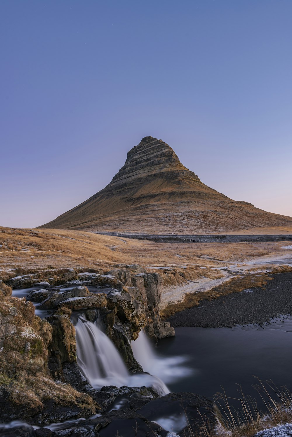
<svg viewBox="0 0 292 437">
<path fill-rule="evenodd" d="M 251 397 L 246 397 L 239 388 L 239 398 L 230 399 L 226 393 L 218 393 L 216 397 L 216 416 L 218 425 L 211 427 L 202 417 L 200 435 L 204 437 L 252 437 L 257 432 L 275 427 L 279 424 L 292 422 L 292 394 L 285 387 L 277 388 L 271 381 L 262 382 L 257 378 L 254 389 L 264 401 L 268 413 L 263 413 Z M 240 403 L 239 409 L 234 409 L 230 403 L 234 400 Z M 231 402 L 230 402 L 231 401 Z M 190 437 L 195 437 L 194 431 L 188 427 Z"/>
</svg>

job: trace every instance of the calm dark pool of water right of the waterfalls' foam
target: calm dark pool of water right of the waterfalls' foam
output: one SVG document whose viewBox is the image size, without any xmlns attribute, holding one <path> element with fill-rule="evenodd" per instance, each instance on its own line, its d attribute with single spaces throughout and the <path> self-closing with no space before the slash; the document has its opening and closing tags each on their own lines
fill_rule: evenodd
<svg viewBox="0 0 292 437">
<path fill-rule="evenodd" d="M 281 321 L 283 320 L 283 321 Z M 194 392 L 213 397 L 224 388 L 226 395 L 239 396 L 239 386 L 266 410 L 253 388 L 257 379 L 271 380 L 292 391 L 292 318 L 277 319 L 264 328 L 176 328 L 172 338 L 160 340 L 157 353 L 188 357 L 193 373 L 168 384 L 173 392 Z M 238 402 L 231 400 L 233 406 Z"/>
</svg>

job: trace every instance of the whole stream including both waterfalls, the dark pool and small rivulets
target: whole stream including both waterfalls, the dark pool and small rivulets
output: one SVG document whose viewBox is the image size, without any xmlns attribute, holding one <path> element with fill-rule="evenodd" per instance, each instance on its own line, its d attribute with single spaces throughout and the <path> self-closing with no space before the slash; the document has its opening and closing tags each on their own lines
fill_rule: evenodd
<svg viewBox="0 0 292 437">
<path fill-rule="evenodd" d="M 60 287 L 60 293 L 68 289 Z M 22 298 L 30 291 L 31 288 L 14 290 L 13 295 Z M 104 288 L 91 291 L 101 292 Z M 50 315 L 51 311 L 38 310 L 38 304 L 35 306 L 40 317 Z M 93 323 L 81 313 L 73 323 L 76 328 L 77 364 L 83 376 L 97 390 L 105 385 L 145 385 L 153 387 L 162 396 L 169 392 L 192 392 L 211 399 L 224 390 L 231 398 L 229 404 L 236 409 L 240 407 L 236 398 L 240 396 L 241 387 L 244 395 L 255 399 L 258 409 L 263 412 L 267 408 L 261 395 L 253 388 L 258 384 L 255 377 L 262 381 L 270 380 L 278 388 L 285 385 L 292 392 L 291 316 L 278 317 L 263 327 L 179 327 L 174 337 L 160 340 L 156 347 L 141 331 L 139 338 L 131 342 L 131 347 L 136 360 L 147 373 L 135 375 L 129 373 L 118 350 L 104 334 L 98 318 Z M 121 406 L 123 403 L 119 400 L 111 408 L 119 409 Z M 185 423 L 180 423 L 179 417 L 173 420 L 168 415 L 165 412 L 159 419 L 153 420 L 166 430 L 179 432 Z M 51 424 L 48 428 L 60 430 L 70 426 L 70 423 L 76 421 Z M 5 427 L 8 429 L 9 424 Z M 0 426 L 0 434 L 5 435 L 2 430 Z"/>
</svg>

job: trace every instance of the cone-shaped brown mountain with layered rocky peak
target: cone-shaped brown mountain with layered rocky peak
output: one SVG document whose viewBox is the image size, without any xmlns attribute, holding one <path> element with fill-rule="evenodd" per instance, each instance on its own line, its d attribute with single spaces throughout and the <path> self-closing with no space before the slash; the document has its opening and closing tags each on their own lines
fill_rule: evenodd
<svg viewBox="0 0 292 437">
<path fill-rule="evenodd" d="M 292 218 L 234 201 L 203 184 L 161 139 L 141 140 L 110 184 L 42 228 L 211 233 L 292 226 Z"/>
</svg>

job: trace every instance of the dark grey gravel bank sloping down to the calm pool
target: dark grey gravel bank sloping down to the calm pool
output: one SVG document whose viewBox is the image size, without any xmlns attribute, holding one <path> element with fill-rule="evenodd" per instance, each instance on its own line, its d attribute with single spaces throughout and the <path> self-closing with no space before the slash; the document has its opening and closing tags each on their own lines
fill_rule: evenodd
<svg viewBox="0 0 292 437">
<path fill-rule="evenodd" d="M 168 319 L 171 326 L 201 326 L 204 328 L 269 322 L 275 317 L 292 314 L 292 273 L 274 277 L 262 288 L 249 288 L 212 301 L 203 300 L 198 307 L 177 312 Z"/>
</svg>

